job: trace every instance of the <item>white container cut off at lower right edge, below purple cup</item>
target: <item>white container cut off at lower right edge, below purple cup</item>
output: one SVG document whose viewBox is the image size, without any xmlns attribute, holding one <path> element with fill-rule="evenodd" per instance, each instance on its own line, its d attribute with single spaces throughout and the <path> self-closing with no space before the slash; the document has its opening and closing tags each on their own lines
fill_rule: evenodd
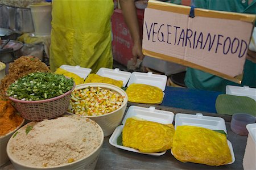
<svg viewBox="0 0 256 170">
<path fill-rule="evenodd" d="M 248 124 L 246 129 L 249 134 L 243 156 L 243 169 L 251 170 L 256 169 L 256 124 Z"/>
</svg>

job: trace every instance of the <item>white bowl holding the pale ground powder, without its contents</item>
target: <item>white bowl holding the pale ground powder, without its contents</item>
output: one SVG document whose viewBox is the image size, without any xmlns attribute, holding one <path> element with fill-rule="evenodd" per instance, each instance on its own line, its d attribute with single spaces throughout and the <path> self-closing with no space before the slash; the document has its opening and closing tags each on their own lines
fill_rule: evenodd
<svg viewBox="0 0 256 170">
<path fill-rule="evenodd" d="M 30 123 L 28 123 L 27 125 L 29 125 Z M 101 127 L 96 124 L 100 129 Z M 20 128 L 19 130 L 24 130 L 26 128 L 26 126 L 23 126 L 22 128 Z M 18 130 L 18 131 L 19 131 Z M 90 153 L 89 155 L 86 155 L 84 158 L 81 158 L 75 162 L 72 163 L 68 163 L 68 164 L 63 164 L 63 165 L 58 165 L 58 166 L 54 166 L 54 167 L 34 167 L 34 166 L 29 166 L 29 165 L 24 165 L 22 162 L 18 162 L 18 160 L 15 160 L 13 155 L 10 152 L 10 142 L 12 141 L 13 138 L 11 138 L 9 140 L 9 142 L 7 143 L 7 147 L 6 147 L 6 151 L 7 151 L 7 155 L 10 158 L 11 163 L 14 165 L 15 169 L 24 169 L 24 170 L 28 170 L 28 169 L 54 169 L 54 170 L 63 170 L 63 169 L 94 169 L 96 167 L 97 161 L 98 161 L 98 157 L 100 156 L 100 151 L 104 142 L 104 134 L 103 131 L 101 129 L 101 143 L 100 146 L 98 146 L 92 153 Z"/>
</svg>

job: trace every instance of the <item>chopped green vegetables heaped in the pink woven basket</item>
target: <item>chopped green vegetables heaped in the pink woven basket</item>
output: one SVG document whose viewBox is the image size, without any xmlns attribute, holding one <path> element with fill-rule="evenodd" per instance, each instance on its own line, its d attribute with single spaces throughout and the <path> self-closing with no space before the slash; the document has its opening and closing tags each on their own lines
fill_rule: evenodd
<svg viewBox="0 0 256 170">
<path fill-rule="evenodd" d="M 73 85 L 73 80 L 64 75 L 31 73 L 11 84 L 7 95 L 26 101 L 51 99 L 68 92 Z"/>
</svg>

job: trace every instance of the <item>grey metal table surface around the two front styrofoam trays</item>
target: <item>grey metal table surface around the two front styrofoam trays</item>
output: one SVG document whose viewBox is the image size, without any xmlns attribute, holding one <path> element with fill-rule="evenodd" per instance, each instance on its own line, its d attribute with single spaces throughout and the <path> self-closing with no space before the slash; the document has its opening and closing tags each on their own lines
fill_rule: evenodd
<svg viewBox="0 0 256 170">
<path fill-rule="evenodd" d="M 130 105 L 134 105 L 129 103 Z M 148 105 L 136 104 L 142 107 L 149 107 Z M 159 105 L 155 106 L 158 109 L 163 109 L 166 111 L 172 111 L 174 113 L 195 113 L 194 111 L 188 111 L 179 108 L 169 108 L 162 107 Z M 205 113 L 204 115 L 218 116 L 218 114 Z M 105 137 L 103 147 L 101 150 L 100 157 L 96 165 L 96 169 L 243 169 L 242 160 L 245 153 L 245 146 L 247 141 L 247 136 L 240 136 L 230 129 L 230 116 L 221 116 L 226 121 L 226 129 L 228 131 L 228 140 L 233 145 L 235 162 L 230 165 L 222 165 L 220 167 L 211 167 L 203 164 L 195 163 L 182 163 L 176 160 L 174 156 L 171 155 L 170 150 L 162 156 L 150 156 L 138 154 L 135 152 L 130 152 L 116 148 L 109 144 L 109 138 Z M 8 162 L 0 169 L 14 169 L 13 165 Z"/>
</svg>

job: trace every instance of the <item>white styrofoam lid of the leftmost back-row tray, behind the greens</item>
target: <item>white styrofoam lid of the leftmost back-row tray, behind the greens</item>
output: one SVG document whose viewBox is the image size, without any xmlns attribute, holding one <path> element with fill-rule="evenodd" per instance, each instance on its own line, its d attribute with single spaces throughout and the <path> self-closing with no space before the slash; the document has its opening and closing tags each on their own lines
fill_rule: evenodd
<svg viewBox="0 0 256 170">
<path fill-rule="evenodd" d="M 74 73 L 84 79 L 90 74 L 90 71 L 92 71 L 92 69 L 89 69 L 89 68 L 84 68 L 80 66 L 70 66 L 70 65 L 61 65 L 60 68 L 67 70 L 71 73 Z"/>
</svg>

